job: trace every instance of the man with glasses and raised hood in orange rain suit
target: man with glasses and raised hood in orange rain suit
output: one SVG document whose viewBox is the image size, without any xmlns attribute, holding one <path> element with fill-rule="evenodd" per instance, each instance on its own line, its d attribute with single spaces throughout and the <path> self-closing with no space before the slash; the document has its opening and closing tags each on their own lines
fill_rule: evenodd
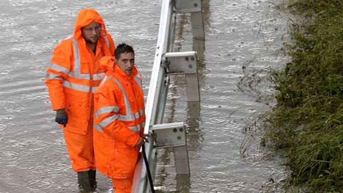
<svg viewBox="0 0 343 193">
<path fill-rule="evenodd" d="M 105 71 L 103 56 L 113 56 L 115 44 L 94 9 L 79 12 L 72 36 L 54 49 L 45 83 L 55 121 L 63 128 L 72 169 L 78 172 L 79 188 L 94 190 L 93 93 Z"/>
</svg>

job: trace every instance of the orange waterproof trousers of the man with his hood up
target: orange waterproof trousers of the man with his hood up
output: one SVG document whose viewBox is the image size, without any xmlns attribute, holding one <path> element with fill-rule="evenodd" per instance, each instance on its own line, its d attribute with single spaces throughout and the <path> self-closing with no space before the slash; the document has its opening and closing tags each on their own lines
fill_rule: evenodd
<svg viewBox="0 0 343 193">
<path fill-rule="evenodd" d="M 63 129 L 71 167 L 75 172 L 95 170 L 92 124 L 93 121 L 90 121 L 86 135 Z"/>
</svg>

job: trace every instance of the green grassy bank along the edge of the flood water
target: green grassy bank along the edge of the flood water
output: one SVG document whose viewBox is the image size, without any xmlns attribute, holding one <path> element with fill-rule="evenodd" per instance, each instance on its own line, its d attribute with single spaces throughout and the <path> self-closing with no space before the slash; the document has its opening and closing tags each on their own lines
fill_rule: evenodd
<svg viewBox="0 0 343 193">
<path fill-rule="evenodd" d="M 262 144 L 284 151 L 286 186 L 343 192 L 343 0 L 287 4 L 303 22 L 292 25 L 291 62 L 270 72 L 277 104 Z"/>
</svg>

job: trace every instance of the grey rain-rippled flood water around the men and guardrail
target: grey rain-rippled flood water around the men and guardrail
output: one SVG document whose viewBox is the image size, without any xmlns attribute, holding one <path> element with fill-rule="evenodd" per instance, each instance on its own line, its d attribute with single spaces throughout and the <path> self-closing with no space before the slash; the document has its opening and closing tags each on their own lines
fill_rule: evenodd
<svg viewBox="0 0 343 193">
<path fill-rule="evenodd" d="M 159 150 L 154 182 L 159 192 L 267 192 L 271 179 L 284 178 L 282 160 L 262 152 L 258 140 L 248 154 L 241 154 L 243 128 L 270 106 L 237 88 L 247 63 L 257 69 L 286 63 L 288 58 L 275 55 L 287 31 L 286 17 L 273 8 L 280 2 L 203 1 L 206 41 L 199 64 L 200 110 L 189 108 L 184 79 L 177 77 L 164 118 L 189 124 L 190 180 L 175 175 L 172 150 Z M 1 0 L 0 193 L 78 192 L 44 79 L 52 49 L 73 32 L 76 14 L 86 7 L 103 16 L 116 44 L 133 45 L 147 94 L 161 0 Z M 189 15 L 179 15 L 178 21 L 176 48 L 189 51 Z M 108 192 L 111 181 L 99 173 L 97 181 L 98 192 Z"/>
</svg>

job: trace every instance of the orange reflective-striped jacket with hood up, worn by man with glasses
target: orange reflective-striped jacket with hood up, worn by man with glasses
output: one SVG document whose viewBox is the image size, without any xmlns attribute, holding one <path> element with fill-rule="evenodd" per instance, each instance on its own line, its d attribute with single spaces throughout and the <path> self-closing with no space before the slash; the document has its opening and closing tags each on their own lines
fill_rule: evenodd
<svg viewBox="0 0 343 193">
<path fill-rule="evenodd" d="M 97 22 L 102 25 L 94 54 L 82 37 L 81 28 Z M 101 16 L 94 9 L 79 12 L 72 36 L 61 41 L 54 49 L 45 83 L 53 110 L 66 109 L 66 130 L 85 134 L 92 111 L 92 93 L 101 82 L 104 70 L 99 61 L 103 56 L 113 56 L 115 44 L 107 33 Z"/>
</svg>

